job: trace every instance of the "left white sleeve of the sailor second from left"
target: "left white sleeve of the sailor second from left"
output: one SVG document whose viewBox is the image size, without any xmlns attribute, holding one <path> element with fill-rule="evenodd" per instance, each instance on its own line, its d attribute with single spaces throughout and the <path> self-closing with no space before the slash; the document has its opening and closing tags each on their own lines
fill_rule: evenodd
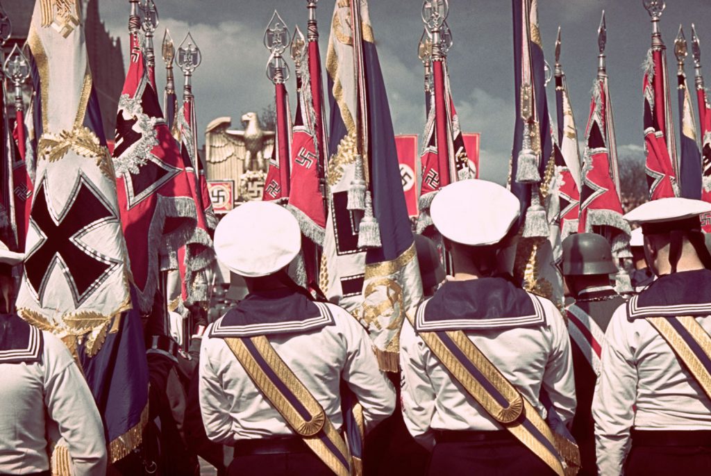
<svg viewBox="0 0 711 476">
<path fill-rule="evenodd" d="M 218 376 L 213 361 L 210 359 L 210 346 L 220 344 L 217 339 L 207 339 L 203 337 L 200 349 L 200 381 L 199 399 L 200 412 L 203 416 L 205 434 L 215 443 L 233 443 L 232 418 L 228 402 L 231 398 L 225 395 L 220 378 Z"/>
</svg>

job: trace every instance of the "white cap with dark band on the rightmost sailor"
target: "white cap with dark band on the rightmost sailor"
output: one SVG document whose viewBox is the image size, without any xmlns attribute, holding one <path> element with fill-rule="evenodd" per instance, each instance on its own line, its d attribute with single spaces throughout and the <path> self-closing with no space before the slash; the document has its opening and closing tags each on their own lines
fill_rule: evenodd
<svg viewBox="0 0 711 476">
<path fill-rule="evenodd" d="M 643 203 L 624 218 L 630 223 L 639 223 L 645 233 L 665 229 L 696 228 L 699 216 L 711 212 L 711 203 L 701 200 L 671 197 Z"/>
</svg>

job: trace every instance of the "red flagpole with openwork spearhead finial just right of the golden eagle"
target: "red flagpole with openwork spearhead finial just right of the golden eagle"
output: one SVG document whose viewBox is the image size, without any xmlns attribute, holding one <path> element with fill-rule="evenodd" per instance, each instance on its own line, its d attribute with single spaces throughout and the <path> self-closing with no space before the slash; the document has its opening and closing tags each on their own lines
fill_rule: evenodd
<svg viewBox="0 0 711 476">
<path fill-rule="evenodd" d="M 284 62 L 283 53 L 289 46 L 289 31 L 286 23 L 274 10 L 272 19 L 264 31 L 264 46 L 269 50 L 267 61 L 267 78 L 274 84 L 277 107 L 277 156 L 279 158 L 279 181 L 281 196 L 289 196 L 289 121 L 287 113 L 287 88 L 284 83 L 289 80 L 289 66 Z"/>
</svg>

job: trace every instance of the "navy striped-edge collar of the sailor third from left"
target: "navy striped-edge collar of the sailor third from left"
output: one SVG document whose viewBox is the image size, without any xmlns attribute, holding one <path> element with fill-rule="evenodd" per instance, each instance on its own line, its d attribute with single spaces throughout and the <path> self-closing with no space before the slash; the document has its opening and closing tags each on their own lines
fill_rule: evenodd
<svg viewBox="0 0 711 476">
<path fill-rule="evenodd" d="M 415 332 L 535 327 L 545 323 L 543 306 L 505 277 L 448 281 L 422 302 Z"/>
</svg>

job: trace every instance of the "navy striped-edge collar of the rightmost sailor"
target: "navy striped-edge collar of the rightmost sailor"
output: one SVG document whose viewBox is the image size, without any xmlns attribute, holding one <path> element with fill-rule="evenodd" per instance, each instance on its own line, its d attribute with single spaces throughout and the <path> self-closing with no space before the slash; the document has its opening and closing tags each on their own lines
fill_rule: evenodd
<svg viewBox="0 0 711 476">
<path fill-rule="evenodd" d="M 711 314 L 711 270 L 660 276 L 627 302 L 629 320 Z"/>
</svg>

